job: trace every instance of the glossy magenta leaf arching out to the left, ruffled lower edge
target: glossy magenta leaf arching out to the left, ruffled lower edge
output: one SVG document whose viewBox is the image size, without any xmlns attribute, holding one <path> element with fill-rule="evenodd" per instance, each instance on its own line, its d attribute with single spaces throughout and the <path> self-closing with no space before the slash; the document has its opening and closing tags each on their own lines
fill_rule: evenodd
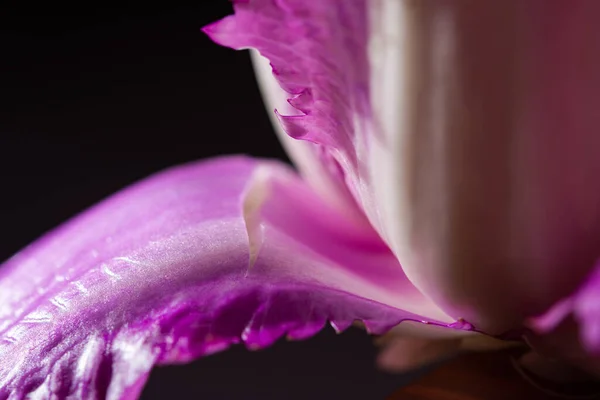
<svg viewBox="0 0 600 400">
<path fill-rule="evenodd" d="M 116 194 L 0 268 L 0 399 L 133 399 L 155 364 L 327 321 L 444 325 L 397 308 L 432 307 L 377 235 L 343 221 L 287 167 L 244 157 Z"/>
</svg>

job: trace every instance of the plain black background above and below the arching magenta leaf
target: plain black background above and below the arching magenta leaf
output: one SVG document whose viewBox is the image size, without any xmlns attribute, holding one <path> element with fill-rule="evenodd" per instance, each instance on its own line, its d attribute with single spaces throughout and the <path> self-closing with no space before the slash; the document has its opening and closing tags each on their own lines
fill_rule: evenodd
<svg viewBox="0 0 600 400">
<path fill-rule="evenodd" d="M 199 30 L 230 4 L 197 3 L 2 3 L 0 259 L 165 167 L 229 153 L 285 160 L 247 52 Z M 378 372 L 374 357 L 363 332 L 329 329 L 158 368 L 142 398 L 382 399 L 404 378 Z"/>
</svg>

